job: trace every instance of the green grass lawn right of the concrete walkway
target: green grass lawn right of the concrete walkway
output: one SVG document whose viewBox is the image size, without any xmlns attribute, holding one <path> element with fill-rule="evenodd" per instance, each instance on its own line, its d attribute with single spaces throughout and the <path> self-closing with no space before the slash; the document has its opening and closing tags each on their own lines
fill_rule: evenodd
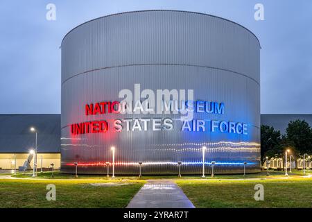
<svg viewBox="0 0 312 222">
<path fill-rule="evenodd" d="M 196 207 L 312 207 L 312 179 L 176 180 Z M 254 185 L 264 200 L 254 200 Z"/>
</svg>

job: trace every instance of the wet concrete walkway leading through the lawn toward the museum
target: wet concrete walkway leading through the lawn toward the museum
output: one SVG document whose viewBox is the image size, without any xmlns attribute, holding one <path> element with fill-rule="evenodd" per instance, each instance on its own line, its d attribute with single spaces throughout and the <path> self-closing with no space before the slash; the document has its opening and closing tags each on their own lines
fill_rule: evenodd
<svg viewBox="0 0 312 222">
<path fill-rule="evenodd" d="M 171 180 L 148 180 L 127 208 L 195 208 Z"/>
</svg>

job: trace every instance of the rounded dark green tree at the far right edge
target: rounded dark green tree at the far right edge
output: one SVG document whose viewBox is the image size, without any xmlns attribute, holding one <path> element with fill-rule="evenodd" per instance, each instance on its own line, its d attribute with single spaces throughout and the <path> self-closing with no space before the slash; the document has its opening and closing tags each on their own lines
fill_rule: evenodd
<svg viewBox="0 0 312 222">
<path fill-rule="evenodd" d="M 286 137 L 295 146 L 297 155 L 312 153 L 312 129 L 306 121 L 300 119 L 290 121 L 286 128 Z"/>
</svg>

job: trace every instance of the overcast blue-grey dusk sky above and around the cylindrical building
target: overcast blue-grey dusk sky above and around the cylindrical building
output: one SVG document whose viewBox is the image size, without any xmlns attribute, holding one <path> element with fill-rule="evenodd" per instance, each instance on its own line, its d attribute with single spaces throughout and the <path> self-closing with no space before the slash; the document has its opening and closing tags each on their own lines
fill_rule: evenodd
<svg viewBox="0 0 312 222">
<path fill-rule="evenodd" d="M 46 5 L 56 20 L 46 20 Z M 255 21 L 254 5 L 264 6 Z M 0 1 L 0 114 L 60 113 L 60 43 L 90 19 L 132 10 L 189 10 L 224 17 L 261 43 L 261 113 L 312 114 L 312 1 Z"/>
</svg>

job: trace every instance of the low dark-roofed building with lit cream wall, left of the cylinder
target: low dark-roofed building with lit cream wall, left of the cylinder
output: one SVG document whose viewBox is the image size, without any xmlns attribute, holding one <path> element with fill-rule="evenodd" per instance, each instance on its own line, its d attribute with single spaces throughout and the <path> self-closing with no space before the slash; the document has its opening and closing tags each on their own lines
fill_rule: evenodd
<svg viewBox="0 0 312 222">
<path fill-rule="evenodd" d="M 60 114 L 0 114 L 0 169 L 17 169 L 35 149 L 37 130 L 37 167 L 60 167 Z M 16 164 L 15 164 L 16 155 Z M 31 157 L 30 166 L 33 167 Z"/>
</svg>

